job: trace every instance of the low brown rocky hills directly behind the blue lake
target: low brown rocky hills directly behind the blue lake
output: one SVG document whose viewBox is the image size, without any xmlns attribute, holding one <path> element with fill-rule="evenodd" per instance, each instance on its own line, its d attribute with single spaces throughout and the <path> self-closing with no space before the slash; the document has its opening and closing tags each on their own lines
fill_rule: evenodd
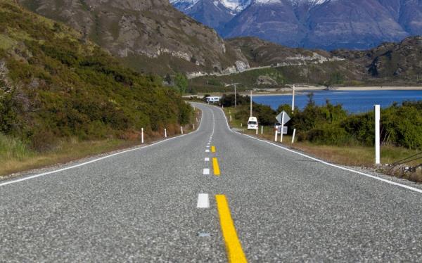
<svg viewBox="0 0 422 263">
<path fill-rule="evenodd" d="M 385 42 L 366 51 L 290 48 L 255 37 L 226 39 L 252 68 L 232 75 L 191 79 L 191 89 L 209 92 L 224 83 L 243 89 L 283 88 L 286 84 L 327 86 L 421 86 L 422 37 Z"/>
</svg>

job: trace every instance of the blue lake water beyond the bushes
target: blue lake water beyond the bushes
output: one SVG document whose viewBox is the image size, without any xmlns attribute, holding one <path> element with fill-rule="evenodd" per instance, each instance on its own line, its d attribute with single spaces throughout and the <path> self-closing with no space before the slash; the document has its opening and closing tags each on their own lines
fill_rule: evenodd
<svg viewBox="0 0 422 263">
<path fill-rule="evenodd" d="M 325 105 L 326 100 L 332 104 L 341 104 L 349 113 L 365 113 L 373 110 L 374 104 L 380 104 L 382 108 L 392 103 L 403 101 L 421 101 L 422 91 L 300 91 L 295 96 L 295 106 L 303 109 L 307 105 L 307 93 L 314 93 L 314 101 L 317 105 Z M 292 96 L 253 96 L 255 103 L 269 105 L 276 110 L 281 104 L 292 103 Z"/>
</svg>

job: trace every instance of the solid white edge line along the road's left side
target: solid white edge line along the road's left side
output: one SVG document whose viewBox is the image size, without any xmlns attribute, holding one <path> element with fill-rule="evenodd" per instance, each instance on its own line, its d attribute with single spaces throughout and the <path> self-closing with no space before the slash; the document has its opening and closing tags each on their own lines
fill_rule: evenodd
<svg viewBox="0 0 422 263">
<path fill-rule="evenodd" d="M 27 181 L 27 180 L 34 179 L 34 178 L 37 178 L 37 177 L 44 177 L 44 175 L 48 175 L 48 174 L 56 174 L 58 172 L 63 172 L 63 171 L 66 171 L 68 169 L 74 169 L 74 168 L 81 167 L 81 166 L 84 166 L 84 165 L 89 165 L 90 163 L 98 162 L 98 161 L 101 161 L 101 160 L 104 160 L 104 159 L 107 159 L 107 158 L 110 158 L 110 157 L 113 157 L 113 156 L 116 156 L 116 155 L 121 155 L 123 153 L 133 152 L 134 150 L 142 150 L 142 149 L 145 149 L 145 148 L 148 148 L 148 147 L 151 147 L 151 146 L 156 146 L 157 144 L 160 144 L 160 143 L 164 143 L 165 141 L 171 141 L 171 140 L 174 140 L 174 139 L 180 139 L 180 138 L 182 138 L 184 136 L 195 134 L 196 132 L 198 132 L 200 130 L 200 127 L 203 124 L 203 121 L 202 121 L 203 120 L 203 114 L 204 114 L 203 113 L 203 110 L 201 110 L 201 118 L 200 118 L 200 124 L 199 124 L 198 129 L 196 129 L 196 131 L 191 131 L 188 134 L 179 135 L 179 136 L 176 136 L 176 137 L 172 137 L 170 139 L 165 139 L 165 140 L 162 140 L 162 141 L 158 141 L 158 142 L 153 143 L 153 144 L 148 144 L 147 146 L 142 146 L 142 147 L 133 148 L 133 149 L 130 149 L 130 150 L 124 150 L 124 151 L 118 152 L 118 153 L 113 153 L 113 154 L 110 154 L 110 155 L 103 156 L 101 158 L 90 160 L 88 162 L 82 162 L 79 165 L 72 165 L 70 167 L 65 167 L 65 168 L 58 169 L 58 170 L 53 170 L 53 171 L 50 171 L 50 172 L 43 172 L 42 174 L 34 174 L 34 175 L 30 176 L 30 177 L 23 177 L 23 178 L 12 180 L 12 181 L 5 181 L 4 183 L 1 183 L 0 186 L 7 186 L 8 184 L 15 184 L 15 183 L 18 183 L 20 181 Z"/>
</svg>

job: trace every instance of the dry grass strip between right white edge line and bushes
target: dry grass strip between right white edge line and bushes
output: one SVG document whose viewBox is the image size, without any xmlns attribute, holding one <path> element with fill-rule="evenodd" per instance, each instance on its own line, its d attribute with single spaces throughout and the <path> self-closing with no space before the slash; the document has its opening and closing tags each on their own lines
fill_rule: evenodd
<svg viewBox="0 0 422 263">
<path fill-rule="evenodd" d="M 248 131 L 245 126 L 248 120 L 236 120 L 235 119 L 235 108 L 224 108 L 224 113 L 226 113 L 227 120 L 230 120 L 230 115 L 232 121 L 229 122 L 231 127 L 241 129 L 243 133 L 255 135 L 255 131 Z M 275 122 L 275 120 L 274 120 Z M 257 137 L 262 139 L 267 139 L 269 141 L 274 141 L 274 127 L 264 127 L 264 132 L 261 134 L 261 129 L 259 129 Z M 280 136 L 278 136 L 278 141 Z M 294 148 L 297 150 L 302 150 L 303 152 L 309 153 L 310 155 L 319 158 L 321 160 L 326 160 L 328 162 L 333 162 L 339 165 L 347 166 L 364 166 L 364 167 L 373 167 L 375 162 L 375 150 L 373 147 L 369 146 L 329 146 L 329 145 L 319 145 L 315 143 L 309 143 L 307 141 L 295 141 L 291 143 L 292 136 L 284 135 L 283 136 L 283 146 L 288 148 Z M 395 146 L 382 146 L 381 147 L 381 162 L 383 164 L 392 164 L 399 160 L 409 157 L 417 153 L 417 150 L 410 150 L 403 147 Z M 407 165 L 418 165 L 418 161 L 410 162 Z"/>
</svg>

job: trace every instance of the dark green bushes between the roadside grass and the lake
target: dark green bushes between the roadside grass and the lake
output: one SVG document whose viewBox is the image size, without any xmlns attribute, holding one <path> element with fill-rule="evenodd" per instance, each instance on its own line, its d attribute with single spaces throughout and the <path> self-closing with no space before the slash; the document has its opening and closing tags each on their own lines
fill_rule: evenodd
<svg viewBox="0 0 422 263">
<path fill-rule="evenodd" d="M 309 102 L 304 110 L 295 109 L 288 122 L 289 133 L 297 129 L 299 141 L 309 141 L 321 145 L 373 146 L 375 141 L 373 112 L 350 115 L 341 105 L 329 101 L 319 106 L 309 94 Z M 238 110 L 235 118 L 243 123 L 250 115 L 249 97 L 238 96 Z M 234 96 L 223 96 L 222 105 L 234 105 Z M 260 124 L 274 124 L 277 113 L 291 112 L 290 105 L 280 105 L 274 111 L 267 105 L 254 103 L 253 114 Z M 422 149 L 422 101 L 404 102 L 381 110 L 381 142 L 383 145 Z"/>
</svg>

